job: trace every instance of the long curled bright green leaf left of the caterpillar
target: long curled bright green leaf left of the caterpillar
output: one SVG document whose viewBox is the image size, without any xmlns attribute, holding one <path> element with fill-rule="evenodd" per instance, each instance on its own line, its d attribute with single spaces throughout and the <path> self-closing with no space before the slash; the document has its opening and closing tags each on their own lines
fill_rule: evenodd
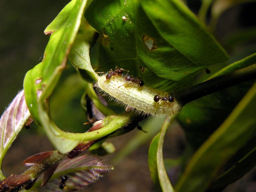
<svg viewBox="0 0 256 192">
<path fill-rule="evenodd" d="M 44 60 L 28 71 L 24 79 L 29 111 L 33 119 L 44 127 L 47 136 L 60 152 L 72 150 L 79 141 L 60 137 L 63 132 L 50 117 L 48 100 L 66 66 L 67 54 L 76 37 L 85 4 L 86 1 L 76 1 L 68 20 L 52 33 L 44 52 Z"/>
</svg>

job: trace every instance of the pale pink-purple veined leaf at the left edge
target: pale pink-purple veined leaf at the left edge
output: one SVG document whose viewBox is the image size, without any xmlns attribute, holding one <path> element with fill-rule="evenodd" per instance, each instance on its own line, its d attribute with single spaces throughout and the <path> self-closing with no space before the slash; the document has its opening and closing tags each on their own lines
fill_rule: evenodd
<svg viewBox="0 0 256 192">
<path fill-rule="evenodd" d="M 29 116 L 30 113 L 22 90 L 16 95 L 0 119 L 0 180 L 5 178 L 1 171 L 3 158 Z"/>
</svg>

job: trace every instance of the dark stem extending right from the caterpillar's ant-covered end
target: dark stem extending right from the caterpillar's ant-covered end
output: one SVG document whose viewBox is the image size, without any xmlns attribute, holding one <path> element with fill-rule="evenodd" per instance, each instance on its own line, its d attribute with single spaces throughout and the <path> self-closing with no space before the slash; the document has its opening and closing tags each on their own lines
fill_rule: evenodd
<svg viewBox="0 0 256 192">
<path fill-rule="evenodd" d="M 176 100 L 184 106 L 186 103 L 204 97 L 205 95 L 209 95 L 254 78 L 256 78 L 256 64 L 215 77 L 208 81 L 204 81 L 203 83 L 196 84 L 192 87 L 188 87 L 171 94 L 175 95 Z"/>
</svg>

